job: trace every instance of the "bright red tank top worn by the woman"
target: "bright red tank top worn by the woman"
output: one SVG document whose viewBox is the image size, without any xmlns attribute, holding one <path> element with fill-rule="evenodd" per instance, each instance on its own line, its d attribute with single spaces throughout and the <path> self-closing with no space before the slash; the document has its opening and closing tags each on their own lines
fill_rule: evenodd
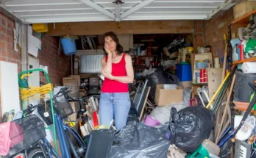
<svg viewBox="0 0 256 158">
<path fill-rule="evenodd" d="M 105 60 L 107 62 L 107 56 L 105 57 Z M 125 65 L 126 65 L 125 54 L 123 54 L 120 62 L 112 63 L 112 75 L 127 76 L 127 69 Z M 129 92 L 128 84 L 105 78 L 102 85 L 102 92 L 103 93 L 127 93 Z"/>
</svg>

